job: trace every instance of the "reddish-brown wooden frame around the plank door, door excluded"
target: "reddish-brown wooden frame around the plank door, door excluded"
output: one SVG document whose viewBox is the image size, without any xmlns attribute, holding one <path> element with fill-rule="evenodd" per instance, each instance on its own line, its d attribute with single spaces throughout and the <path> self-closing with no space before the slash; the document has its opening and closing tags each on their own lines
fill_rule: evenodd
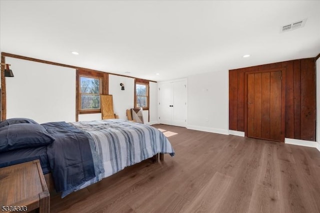
<svg viewBox="0 0 320 213">
<path fill-rule="evenodd" d="M 246 71 L 244 72 L 244 136 L 247 137 L 248 133 L 248 74 L 252 73 L 263 73 L 263 72 L 275 72 L 281 71 L 281 140 L 274 140 L 278 142 L 284 142 L 285 134 L 285 68 L 276 68 L 276 69 L 266 69 L 266 70 L 256 70 L 256 71 Z M 269 138 L 259 138 L 271 140 Z"/>
</svg>

